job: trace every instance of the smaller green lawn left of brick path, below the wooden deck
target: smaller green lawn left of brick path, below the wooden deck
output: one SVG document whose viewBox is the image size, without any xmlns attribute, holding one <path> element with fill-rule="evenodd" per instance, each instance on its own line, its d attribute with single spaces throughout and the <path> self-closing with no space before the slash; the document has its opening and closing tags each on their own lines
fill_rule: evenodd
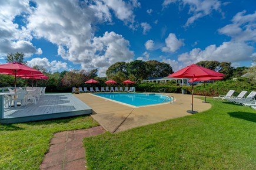
<svg viewBox="0 0 256 170">
<path fill-rule="evenodd" d="M 90 116 L 0 124 L 0 169 L 39 169 L 55 132 L 96 125 Z"/>
</svg>

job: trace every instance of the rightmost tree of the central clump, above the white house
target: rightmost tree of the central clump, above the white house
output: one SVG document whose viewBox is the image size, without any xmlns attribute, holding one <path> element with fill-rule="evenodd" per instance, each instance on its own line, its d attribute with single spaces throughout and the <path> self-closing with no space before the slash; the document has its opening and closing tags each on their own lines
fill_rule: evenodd
<svg viewBox="0 0 256 170">
<path fill-rule="evenodd" d="M 146 62 L 146 72 L 148 77 L 165 77 L 172 74 L 172 67 L 164 62 L 149 60 Z"/>
</svg>

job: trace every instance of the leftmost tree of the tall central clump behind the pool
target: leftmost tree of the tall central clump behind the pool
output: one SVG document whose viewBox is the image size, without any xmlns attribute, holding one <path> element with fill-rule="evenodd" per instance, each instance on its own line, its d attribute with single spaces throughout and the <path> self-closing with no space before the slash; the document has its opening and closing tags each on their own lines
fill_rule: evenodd
<svg viewBox="0 0 256 170">
<path fill-rule="evenodd" d="M 111 76 L 114 76 L 118 72 L 124 73 L 124 76 L 127 77 L 128 76 L 127 67 L 128 67 L 128 63 L 125 63 L 125 62 L 117 62 L 115 64 L 112 64 L 110 67 L 108 67 L 106 71 L 107 79 L 109 79 L 109 77 Z"/>
</svg>

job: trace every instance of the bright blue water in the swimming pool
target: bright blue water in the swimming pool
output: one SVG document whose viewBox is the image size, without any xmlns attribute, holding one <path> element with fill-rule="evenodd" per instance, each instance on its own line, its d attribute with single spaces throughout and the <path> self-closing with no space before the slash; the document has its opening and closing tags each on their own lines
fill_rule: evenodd
<svg viewBox="0 0 256 170">
<path fill-rule="evenodd" d="M 142 93 L 96 93 L 95 95 L 131 104 L 133 106 L 145 106 L 149 104 L 159 104 L 167 96 L 161 94 L 142 94 Z M 168 102 L 170 100 L 167 100 Z"/>
</svg>

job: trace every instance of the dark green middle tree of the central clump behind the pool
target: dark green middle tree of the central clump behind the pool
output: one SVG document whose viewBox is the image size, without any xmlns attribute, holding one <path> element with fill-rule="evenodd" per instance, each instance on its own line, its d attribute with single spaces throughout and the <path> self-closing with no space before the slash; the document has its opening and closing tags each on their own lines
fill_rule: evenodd
<svg viewBox="0 0 256 170">
<path fill-rule="evenodd" d="M 147 78 L 146 63 L 142 60 L 134 60 L 128 64 L 129 75 L 133 74 L 135 80 L 144 80 Z"/>
</svg>

